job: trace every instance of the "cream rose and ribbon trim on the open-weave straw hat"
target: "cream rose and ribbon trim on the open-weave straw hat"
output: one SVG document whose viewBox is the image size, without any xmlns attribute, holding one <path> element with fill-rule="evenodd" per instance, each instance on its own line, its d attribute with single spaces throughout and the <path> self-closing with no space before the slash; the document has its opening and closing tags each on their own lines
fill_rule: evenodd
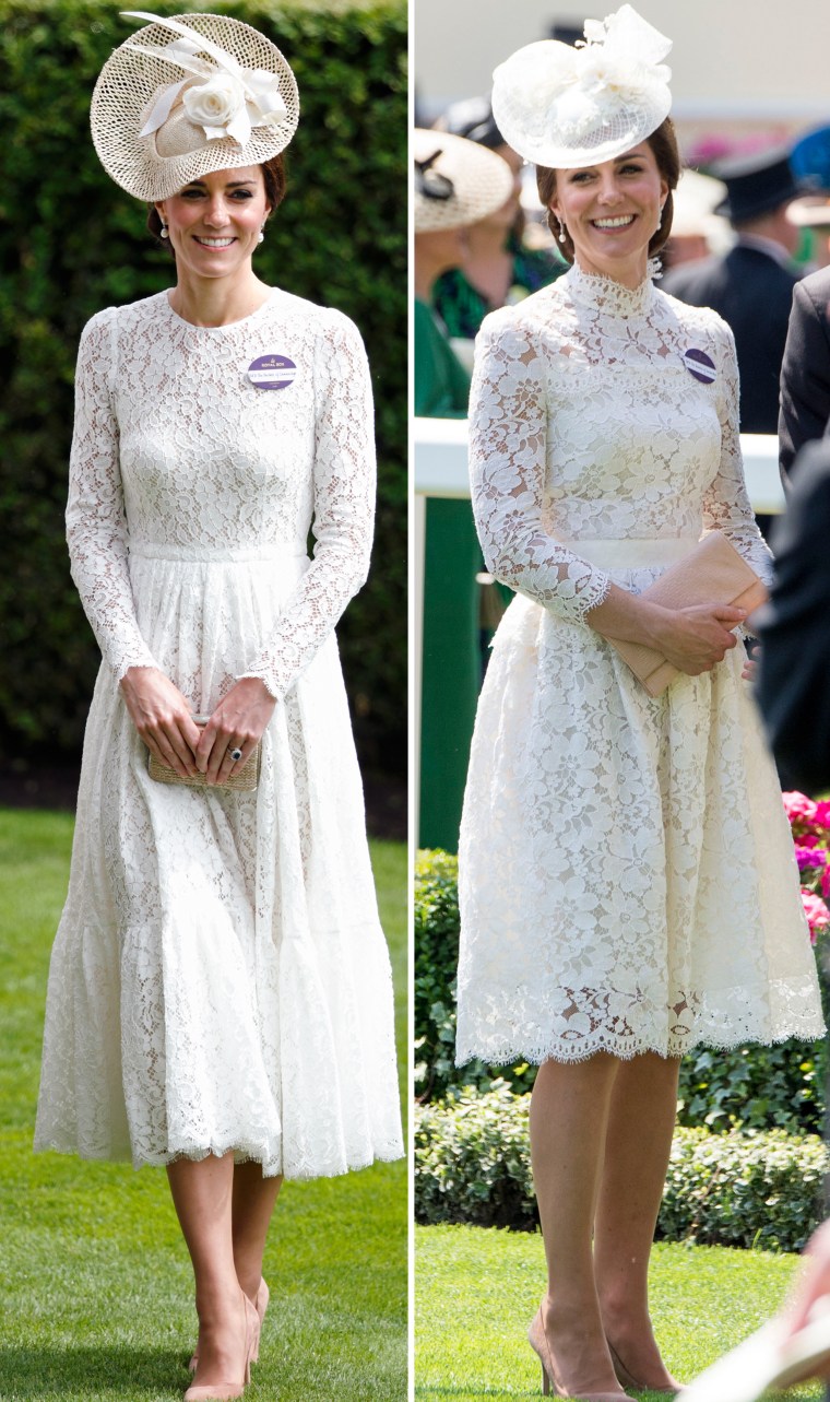
<svg viewBox="0 0 830 1402">
<path fill-rule="evenodd" d="M 164 125 L 179 94 L 184 94 L 182 105 L 189 119 L 195 126 L 202 126 L 208 140 L 230 136 L 240 146 L 245 146 L 254 126 L 276 126 L 287 116 L 287 108 L 279 91 L 279 79 L 275 73 L 266 73 L 264 69 L 244 69 L 212 39 L 205 35 L 193 38 L 193 31 L 179 24 L 178 20 L 160 20 L 143 10 L 125 10 L 122 13 L 132 20 L 163 24 L 174 34 L 181 35 L 179 39 L 168 45 L 139 43 L 137 39 L 128 39 L 125 48 L 135 53 L 147 53 L 151 57 L 163 59 L 165 63 L 174 63 L 200 80 L 195 83 L 192 77 L 186 77 L 179 83 L 170 83 L 160 88 L 139 136 L 153 136 Z M 215 63 L 199 57 L 200 53 L 209 53 Z"/>
</svg>

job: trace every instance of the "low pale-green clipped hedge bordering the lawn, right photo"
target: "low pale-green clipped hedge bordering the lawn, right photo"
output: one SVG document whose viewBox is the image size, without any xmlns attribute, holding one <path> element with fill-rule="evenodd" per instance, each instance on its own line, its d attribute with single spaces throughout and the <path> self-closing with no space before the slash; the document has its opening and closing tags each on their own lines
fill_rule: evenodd
<svg viewBox="0 0 830 1402">
<path fill-rule="evenodd" d="M 415 1113 L 415 1217 L 478 1227 L 538 1225 L 529 1095 L 506 1081 L 467 1088 Z M 823 1217 L 827 1150 L 817 1136 L 679 1129 L 658 1237 L 801 1251 Z"/>
</svg>

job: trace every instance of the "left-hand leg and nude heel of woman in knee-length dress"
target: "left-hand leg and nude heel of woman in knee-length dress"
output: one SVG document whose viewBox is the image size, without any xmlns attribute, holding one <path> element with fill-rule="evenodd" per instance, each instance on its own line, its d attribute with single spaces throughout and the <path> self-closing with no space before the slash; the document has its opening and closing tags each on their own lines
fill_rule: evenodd
<svg viewBox="0 0 830 1402">
<path fill-rule="evenodd" d="M 530 1151 L 548 1267 L 543 1304 L 557 1382 L 575 1396 L 620 1392 L 594 1284 L 593 1218 L 620 1063 L 599 1053 L 545 1061 L 530 1102 Z"/>
</svg>

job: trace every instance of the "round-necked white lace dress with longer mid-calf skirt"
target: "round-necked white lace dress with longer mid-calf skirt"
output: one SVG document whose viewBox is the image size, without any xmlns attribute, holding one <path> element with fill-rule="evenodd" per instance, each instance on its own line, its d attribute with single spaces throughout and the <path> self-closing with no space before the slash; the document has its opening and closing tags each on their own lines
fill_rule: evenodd
<svg viewBox="0 0 830 1402">
<path fill-rule="evenodd" d="M 279 388 L 248 376 L 264 356 Z M 67 523 L 104 662 L 36 1148 L 136 1166 L 233 1150 L 292 1178 L 401 1154 L 332 631 L 366 575 L 373 491 L 366 356 L 339 313 L 275 290 L 199 328 L 160 293 L 87 325 Z M 193 712 L 261 677 L 278 705 L 258 789 L 153 782 L 118 688 L 132 666 L 158 666 Z"/>
</svg>

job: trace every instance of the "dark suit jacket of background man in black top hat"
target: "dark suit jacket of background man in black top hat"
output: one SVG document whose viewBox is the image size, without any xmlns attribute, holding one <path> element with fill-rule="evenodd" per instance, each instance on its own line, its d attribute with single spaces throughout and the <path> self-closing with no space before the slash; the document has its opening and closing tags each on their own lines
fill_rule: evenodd
<svg viewBox="0 0 830 1402">
<path fill-rule="evenodd" d="M 735 334 L 740 432 L 778 430 L 778 380 L 798 278 L 771 254 L 737 243 L 723 258 L 681 265 L 660 286 L 693 307 L 712 307 Z"/>
</svg>

